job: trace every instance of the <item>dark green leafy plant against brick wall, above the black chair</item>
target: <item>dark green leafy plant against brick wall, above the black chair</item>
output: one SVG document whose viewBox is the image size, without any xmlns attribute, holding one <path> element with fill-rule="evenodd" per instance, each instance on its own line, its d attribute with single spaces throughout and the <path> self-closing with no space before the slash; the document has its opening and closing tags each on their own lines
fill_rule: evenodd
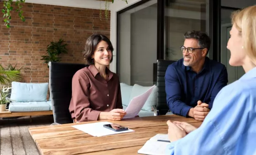
<svg viewBox="0 0 256 155">
<path fill-rule="evenodd" d="M 51 42 L 48 46 L 47 46 L 47 54 L 48 56 L 41 56 L 42 59 L 40 60 L 44 60 L 44 63 L 48 62 L 60 62 L 61 58 L 59 57 L 59 55 L 61 53 L 68 53 L 68 49 L 66 48 L 66 46 L 68 46 L 68 44 L 65 43 L 64 40 L 59 39 L 59 41 L 55 41 L 55 42 Z M 47 67 L 49 67 L 47 65 Z"/>
</svg>

